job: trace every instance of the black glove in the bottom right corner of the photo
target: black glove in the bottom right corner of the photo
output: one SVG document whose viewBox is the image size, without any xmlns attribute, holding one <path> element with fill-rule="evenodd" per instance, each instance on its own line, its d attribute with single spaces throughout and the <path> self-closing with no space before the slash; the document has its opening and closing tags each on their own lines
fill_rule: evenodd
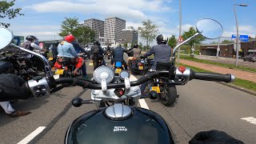
<svg viewBox="0 0 256 144">
<path fill-rule="evenodd" d="M 210 130 L 201 131 L 195 134 L 189 142 L 190 144 L 243 144 L 242 141 L 231 137 L 223 131 Z"/>
</svg>

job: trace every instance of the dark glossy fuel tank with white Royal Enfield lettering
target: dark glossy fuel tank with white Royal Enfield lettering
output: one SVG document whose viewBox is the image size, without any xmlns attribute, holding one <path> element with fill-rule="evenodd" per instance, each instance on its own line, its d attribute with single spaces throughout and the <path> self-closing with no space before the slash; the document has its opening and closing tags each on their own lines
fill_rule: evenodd
<svg viewBox="0 0 256 144">
<path fill-rule="evenodd" d="M 110 108 L 110 107 L 109 107 Z M 74 120 L 65 143 L 172 144 L 174 138 L 164 119 L 151 110 L 131 107 L 122 118 L 111 118 L 108 108 L 93 110 Z"/>
</svg>

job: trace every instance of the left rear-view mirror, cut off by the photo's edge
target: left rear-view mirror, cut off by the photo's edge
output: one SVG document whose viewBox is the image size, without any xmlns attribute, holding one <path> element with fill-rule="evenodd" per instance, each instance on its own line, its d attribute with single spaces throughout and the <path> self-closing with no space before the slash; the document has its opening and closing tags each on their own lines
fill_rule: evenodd
<svg viewBox="0 0 256 144">
<path fill-rule="evenodd" d="M 0 28 L 0 50 L 9 46 L 14 38 L 14 35 L 6 28 Z"/>
</svg>

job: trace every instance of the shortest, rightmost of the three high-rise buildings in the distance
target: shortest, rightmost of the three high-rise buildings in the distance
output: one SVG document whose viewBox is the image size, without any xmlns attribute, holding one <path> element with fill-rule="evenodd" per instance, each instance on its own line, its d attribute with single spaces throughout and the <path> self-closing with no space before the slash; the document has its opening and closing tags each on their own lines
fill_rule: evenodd
<svg viewBox="0 0 256 144">
<path fill-rule="evenodd" d="M 127 26 L 122 30 L 122 43 L 138 43 L 138 31 L 133 26 Z"/>
</svg>

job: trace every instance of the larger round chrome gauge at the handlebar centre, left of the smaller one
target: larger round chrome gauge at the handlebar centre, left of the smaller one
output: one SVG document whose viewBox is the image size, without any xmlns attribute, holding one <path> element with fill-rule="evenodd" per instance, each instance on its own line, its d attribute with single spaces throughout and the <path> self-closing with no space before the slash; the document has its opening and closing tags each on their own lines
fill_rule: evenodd
<svg viewBox="0 0 256 144">
<path fill-rule="evenodd" d="M 106 79 L 106 83 L 110 83 L 114 79 L 114 71 L 107 66 L 99 66 L 94 70 L 94 80 L 102 83 L 102 79 Z"/>
</svg>

